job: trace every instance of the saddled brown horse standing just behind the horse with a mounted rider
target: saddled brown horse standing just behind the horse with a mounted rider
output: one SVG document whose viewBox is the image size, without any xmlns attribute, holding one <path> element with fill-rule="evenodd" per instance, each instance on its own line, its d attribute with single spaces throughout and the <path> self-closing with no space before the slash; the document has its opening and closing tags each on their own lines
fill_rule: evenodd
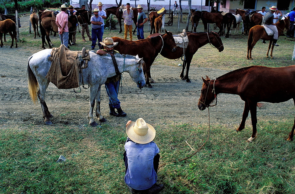
<svg viewBox="0 0 295 194">
<path fill-rule="evenodd" d="M 249 18 L 249 17 L 246 17 L 245 13 L 246 13 L 246 10 L 236 9 L 236 15 L 240 14 L 240 16 L 242 16 L 243 25 L 244 25 L 244 34 L 248 34 L 252 26 L 262 24 L 263 15 L 260 13 L 254 13 L 253 16 Z"/>
</svg>

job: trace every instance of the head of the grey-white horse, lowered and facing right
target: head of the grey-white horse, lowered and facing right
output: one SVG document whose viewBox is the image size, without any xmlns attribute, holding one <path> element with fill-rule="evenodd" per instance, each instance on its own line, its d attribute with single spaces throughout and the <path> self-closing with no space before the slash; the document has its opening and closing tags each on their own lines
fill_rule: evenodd
<svg viewBox="0 0 295 194">
<path fill-rule="evenodd" d="M 128 55 L 126 55 L 125 57 L 127 56 Z M 134 57 L 135 59 L 135 65 L 131 65 L 128 72 L 133 82 L 137 83 L 137 87 L 143 88 L 145 86 L 145 75 L 142 68 L 145 62 L 143 61 L 143 58 L 139 58 L 138 55 L 132 57 Z"/>
</svg>

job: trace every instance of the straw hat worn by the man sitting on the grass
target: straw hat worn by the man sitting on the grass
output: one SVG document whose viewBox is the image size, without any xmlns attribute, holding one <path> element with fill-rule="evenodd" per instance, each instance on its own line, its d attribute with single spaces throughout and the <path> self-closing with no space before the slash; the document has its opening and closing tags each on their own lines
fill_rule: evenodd
<svg viewBox="0 0 295 194">
<path fill-rule="evenodd" d="M 153 141 L 156 135 L 154 127 L 142 118 L 137 119 L 136 122 L 130 122 L 126 127 L 126 133 L 132 141 L 140 144 Z"/>
</svg>

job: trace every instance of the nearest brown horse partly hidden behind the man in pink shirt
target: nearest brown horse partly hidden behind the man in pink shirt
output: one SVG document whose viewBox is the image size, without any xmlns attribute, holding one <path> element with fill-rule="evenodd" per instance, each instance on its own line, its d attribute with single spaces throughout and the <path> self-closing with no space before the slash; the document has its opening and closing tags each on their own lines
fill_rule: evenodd
<svg viewBox="0 0 295 194">
<path fill-rule="evenodd" d="M 73 33 L 74 27 L 76 27 L 76 24 L 78 23 L 77 17 L 76 16 L 69 16 L 68 17 L 68 28 L 69 28 L 69 42 L 70 42 L 70 37 Z M 41 28 L 42 26 L 42 28 Z M 52 17 L 45 17 L 41 21 L 41 39 L 42 39 L 42 48 L 46 49 L 44 46 L 45 43 L 45 36 L 46 40 L 48 42 L 48 46 L 50 49 L 52 49 L 53 44 L 49 38 L 50 31 L 58 32 L 58 26 L 55 24 L 55 18 Z M 67 46 L 67 45 L 66 45 Z"/>
</svg>

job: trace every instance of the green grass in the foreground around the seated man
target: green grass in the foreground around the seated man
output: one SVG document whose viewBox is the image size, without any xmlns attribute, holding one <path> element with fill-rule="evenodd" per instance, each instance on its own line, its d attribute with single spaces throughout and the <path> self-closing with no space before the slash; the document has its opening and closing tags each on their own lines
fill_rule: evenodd
<svg viewBox="0 0 295 194">
<path fill-rule="evenodd" d="M 293 120 L 258 123 L 235 132 L 211 126 L 194 156 L 158 172 L 163 193 L 295 193 Z M 157 125 L 160 165 L 190 156 L 207 139 L 204 125 Z M 15 126 L 0 131 L 0 193 L 128 193 L 123 127 Z M 186 141 L 194 150 L 186 144 Z M 66 162 L 56 163 L 59 155 Z"/>
</svg>

